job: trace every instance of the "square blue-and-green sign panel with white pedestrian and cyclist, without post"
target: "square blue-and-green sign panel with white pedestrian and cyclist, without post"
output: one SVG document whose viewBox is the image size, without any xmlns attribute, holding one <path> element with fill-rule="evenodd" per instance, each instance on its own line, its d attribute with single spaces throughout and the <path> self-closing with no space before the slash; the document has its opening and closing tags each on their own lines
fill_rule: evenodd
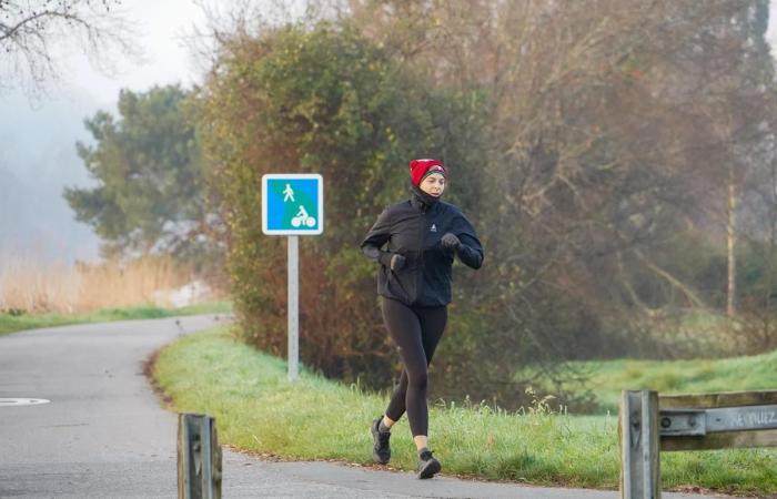
<svg viewBox="0 0 777 499">
<path fill-rule="evenodd" d="M 324 181 L 321 175 L 262 175 L 262 232 L 269 235 L 322 234 Z"/>
</svg>

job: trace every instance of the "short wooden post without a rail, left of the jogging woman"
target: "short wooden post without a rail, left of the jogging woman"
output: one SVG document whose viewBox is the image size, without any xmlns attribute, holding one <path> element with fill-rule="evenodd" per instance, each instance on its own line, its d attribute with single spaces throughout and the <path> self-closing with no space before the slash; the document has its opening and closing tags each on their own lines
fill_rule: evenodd
<svg viewBox="0 0 777 499">
<path fill-rule="evenodd" d="M 206 415 L 179 414 L 179 499 L 221 499 L 221 470 L 215 420 Z"/>
</svg>

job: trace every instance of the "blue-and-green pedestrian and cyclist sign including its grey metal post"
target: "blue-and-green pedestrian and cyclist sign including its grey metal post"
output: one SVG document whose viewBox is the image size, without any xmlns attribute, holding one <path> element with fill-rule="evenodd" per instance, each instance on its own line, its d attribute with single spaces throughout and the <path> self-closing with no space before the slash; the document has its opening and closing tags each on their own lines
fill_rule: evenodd
<svg viewBox="0 0 777 499">
<path fill-rule="evenodd" d="M 289 236 L 289 380 L 299 377 L 300 235 L 324 232 L 324 181 L 319 174 L 262 176 L 262 232 Z"/>
</svg>

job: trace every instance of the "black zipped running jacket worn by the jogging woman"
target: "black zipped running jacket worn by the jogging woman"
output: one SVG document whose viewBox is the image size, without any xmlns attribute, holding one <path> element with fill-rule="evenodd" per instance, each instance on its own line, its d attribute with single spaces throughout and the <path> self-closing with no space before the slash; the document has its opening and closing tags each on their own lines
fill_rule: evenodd
<svg viewBox="0 0 777 499">
<path fill-rule="evenodd" d="M 462 243 L 455 252 L 445 249 L 440 242 L 448 232 Z M 377 294 L 406 305 L 451 303 L 454 253 L 472 268 L 483 265 L 483 247 L 462 211 L 443 201 L 426 203 L 415 193 L 410 200 L 385 208 L 361 247 L 369 258 L 382 264 Z M 392 271 L 391 258 L 396 253 L 406 261 L 401 269 Z"/>
</svg>

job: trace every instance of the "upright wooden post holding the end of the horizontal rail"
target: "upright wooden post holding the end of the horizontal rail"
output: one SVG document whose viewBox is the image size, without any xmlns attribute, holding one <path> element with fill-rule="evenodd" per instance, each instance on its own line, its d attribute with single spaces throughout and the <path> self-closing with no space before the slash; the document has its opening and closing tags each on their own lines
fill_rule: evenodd
<svg viewBox="0 0 777 499">
<path fill-rule="evenodd" d="M 620 395 L 620 497 L 660 499 L 658 460 L 658 394 L 628 391 Z"/>
</svg>

